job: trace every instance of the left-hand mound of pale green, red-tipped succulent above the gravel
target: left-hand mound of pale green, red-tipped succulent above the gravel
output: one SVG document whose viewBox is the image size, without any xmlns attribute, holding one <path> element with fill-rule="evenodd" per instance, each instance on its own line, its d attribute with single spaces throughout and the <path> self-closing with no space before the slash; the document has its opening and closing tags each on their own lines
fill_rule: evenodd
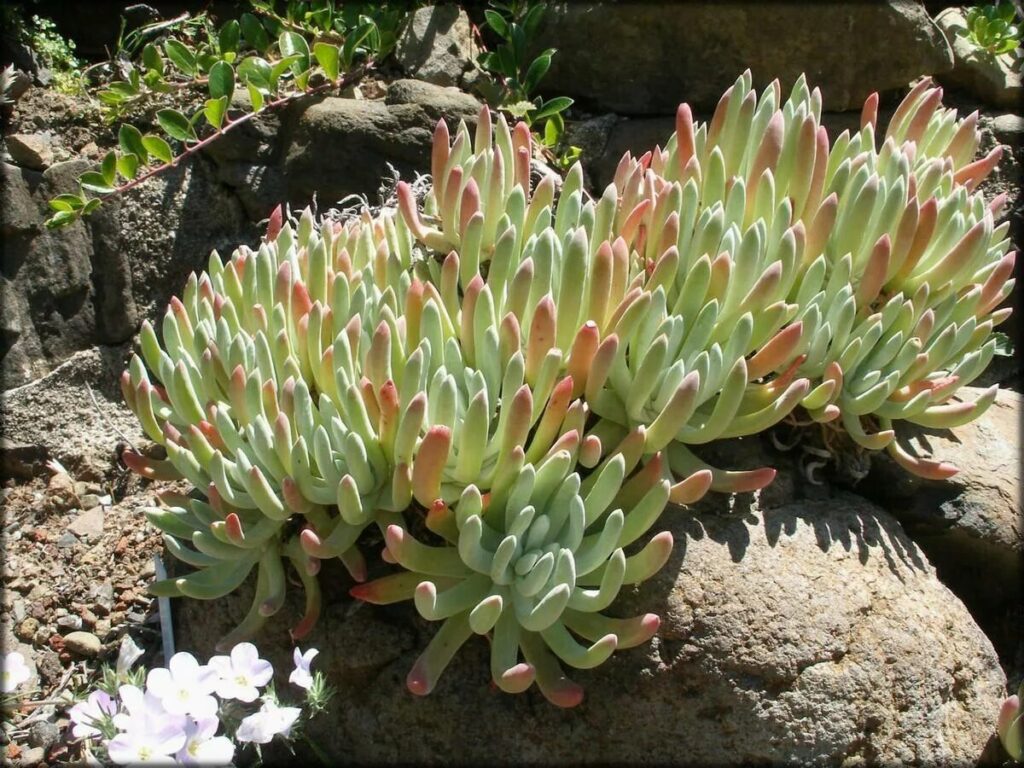
<svg viewBox="0 0 1024 768">
<path fill-rule="evenodd" d="M 365 578 L 355 542 L 367 526 L 400 523 L 414 502 L 454 504 L 470 484 L 500 496 L 552 453 L 593 467 L 617 445 L 581 440 L 589 412 L 571 401 L 571 377 L 527 376 L 529 348 L 499 340 L 486 289 L 449 297 L 411 276 L 400 226 L 317 227 L 307 211 L 297 230 L 271 225 L 257 252 L 226 264 L 214 254 L 172 300 L 163 349 L 143 326 L 122 385 L 168 458 L 125 460 L 197 488 L 147 511 L 199 568 L 153 591 L 219 597 L 259 565 L 253 610 L 222 645 L 281 607 L 283 557 L 307 591 L 301 636 L 318 614 L 321 559 Z M 692 496 L 692 482 L 677 485 Z"/>
</svg>

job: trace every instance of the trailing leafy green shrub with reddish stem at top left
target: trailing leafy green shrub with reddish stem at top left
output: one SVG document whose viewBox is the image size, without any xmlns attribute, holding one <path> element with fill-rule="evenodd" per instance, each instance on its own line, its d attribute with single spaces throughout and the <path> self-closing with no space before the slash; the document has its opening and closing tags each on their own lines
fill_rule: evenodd
<svg viewBox="0 0 1024 768">
<path fill-rule="evenodd" d="M 55 213 L 47 226 L 62 226 L 92 213 L 103 200 L 176 166 L 268 110 L 357 82 L 376 67 L 382 40 L 376 22 L 366 15 L 357 16 L 350 28 L 339 28 L 342 18 L 336 19 L 333 29 L 345 34 L 332 33 L 330 42 L 292 29 L 271 36 L 282 25 L 272 19 L 264 24 L 252 13 L 220 27 L 205 15 L 172 20 L 151 25 L 123 41 L 122 51 L 138 53 L 134 59 L 120 57 L 123 77 L 97 93 L 110 120 L 139 106 L 155 110 L 159 132 L 143 134 L 123 122 L 118 147 L 98 169 L 82 174 L 81 190 L 50 201 Z M 142 33 L 154 31 L 166 39 L 143 42 Z M 236 98 L 237 92 L 245 97 Z M 197 105 L 181 109 L 182 102 Z"/>
</svg>

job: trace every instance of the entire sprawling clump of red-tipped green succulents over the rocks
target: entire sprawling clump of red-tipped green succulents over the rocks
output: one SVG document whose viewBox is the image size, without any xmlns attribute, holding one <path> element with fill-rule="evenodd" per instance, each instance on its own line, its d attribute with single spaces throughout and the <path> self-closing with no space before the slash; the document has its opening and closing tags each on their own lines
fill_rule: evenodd
<svg viewBox="0 0 1024 768">
<path fill-rule="evenodd" d="M 454 138 L 441 121 L 432 185 L 343 222 L 271 217 L 258 250 L 189 279 L 148 324 L 125 398 L 184 477 L 150 519 L 197 570 L 154 585 L 214 598 L 256 568 L 251 636 L 338 557 L 367 578 L 376 526 L 395 572 L 358 584 L 443 622 L 410 673 L 427 693 L 472 635 L 498 687 L 582 697 L 591 668 L 649 639 L 657 616 L 602 613 L 669 559 L 669 502 L 738 493 L 774 470 L 710 467 L 693 446 L 762 432 L 796 409 L 841 424 L 910 471 L 948 465 L 894 440 L 900 420 L 977 418 L 995 395 L 951 398 L 985 368 L 1013 287 L 1002 201 L 975 191 L 977 116 L 914 87 L 874 136 L 831 144 L 804 79 L 783 102 L 744 73 L 711 122 L 680 108 L 665 147 L 627 154 L 596 199 L 579 165 L 534 183 L 524 125 Z M 159 383 L 157 383 L 159 382 Z M 627 550 L 631 554 L 627 554 Z"/>
</svg>

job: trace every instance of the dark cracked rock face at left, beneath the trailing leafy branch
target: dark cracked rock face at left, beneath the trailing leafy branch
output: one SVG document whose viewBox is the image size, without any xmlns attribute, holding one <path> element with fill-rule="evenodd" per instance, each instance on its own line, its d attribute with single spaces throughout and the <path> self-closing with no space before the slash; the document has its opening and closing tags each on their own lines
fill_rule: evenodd
<svg viewBox="0 0 1024 768">
<path fill-rule="evenodd" d="M 83 221 L 46 229 L 46 202 L 76 188 L 89 167 L 81 160 L 43 173 L 3 167 L 4 388 L 46 374 L 78 350 L 131 339 L 211 249 L 229 249 L 255 233 L 203 160 L 172 169 Z"/>
</svg>

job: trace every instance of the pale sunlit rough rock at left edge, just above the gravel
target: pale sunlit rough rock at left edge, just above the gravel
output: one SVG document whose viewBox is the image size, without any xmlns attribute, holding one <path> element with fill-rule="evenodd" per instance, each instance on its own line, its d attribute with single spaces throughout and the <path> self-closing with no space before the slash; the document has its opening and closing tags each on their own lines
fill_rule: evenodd
<svg viewBox="0 0 1024 768">
<path fill-rule="evenodd" d="M 4 452 L 0 474 L 31 477 L 56 459 L 76 477 L 103 479 L 119 441 L 145 439 L 118 384 L 130 353 L 127 345 L 77 352 L 47 376 L 0 394 L 0 432 L 15 449 Z"/>
</svg>

